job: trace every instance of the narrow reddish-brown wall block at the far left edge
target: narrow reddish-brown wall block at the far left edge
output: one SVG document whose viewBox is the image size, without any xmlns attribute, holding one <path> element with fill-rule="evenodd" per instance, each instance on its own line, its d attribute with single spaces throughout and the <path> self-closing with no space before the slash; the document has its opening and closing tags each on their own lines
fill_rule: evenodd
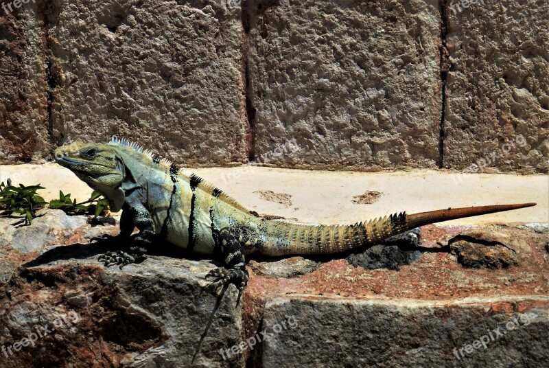
<svg viewBox="0 0 549 368">
<path fill-rule="evenodd" d="M 36 5 L 0 11 L 0 163 L 49 154 L 43 25 Z"/>
</svg>

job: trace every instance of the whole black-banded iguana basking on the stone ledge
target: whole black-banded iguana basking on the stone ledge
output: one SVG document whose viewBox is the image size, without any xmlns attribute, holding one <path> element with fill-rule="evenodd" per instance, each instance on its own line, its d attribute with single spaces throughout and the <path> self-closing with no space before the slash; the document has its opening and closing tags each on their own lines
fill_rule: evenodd
<svg viewBox="0 0 549 368">
<path fill-rule="evenodd" d="M 406 212 L 354 225 L 306 225 L 261 218 L 221 189 L 178 168 L 126 139 L 57 148 L 60 165 L 100 192 L 113 211 L 122 210 L 117 240 L 132 244 L 129 251 L 100 257 L 109 266 L 141 262 L 155 235 L 187 251 L 219 257 L 224 267 L 210 271 L 211 286 L 248 281 L 245 257 L 327 255 L 361 249 L 422 225 L 536 205 L 492 205 L 442 209 L 408 215 Z M 132 236 L 135 227 L 139 233 Z"/>
</svg>

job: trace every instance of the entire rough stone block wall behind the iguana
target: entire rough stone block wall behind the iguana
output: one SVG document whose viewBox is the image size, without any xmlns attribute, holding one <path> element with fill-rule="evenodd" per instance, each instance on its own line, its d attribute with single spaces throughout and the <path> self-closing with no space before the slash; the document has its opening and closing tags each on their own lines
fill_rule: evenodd
<svg viewBox="0 0 549 368">
<path fill-rule="evenodd" d="M 441 1 L 9 3 L 0 163 L 119 135 L 181 165 L 548 172 L 549 4 Z"/>
</svg>

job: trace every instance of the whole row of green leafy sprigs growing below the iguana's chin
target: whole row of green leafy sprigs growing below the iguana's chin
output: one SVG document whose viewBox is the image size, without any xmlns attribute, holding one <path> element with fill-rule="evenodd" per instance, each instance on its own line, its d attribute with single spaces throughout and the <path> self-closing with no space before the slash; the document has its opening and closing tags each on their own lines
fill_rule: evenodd
<svg viewBox="0 0 549 368">
<path fill-rule="evenodd" d="M 59 199 L 48 203 L 36 194 L 38 189 L 45 189 L 40 187 L 40 184 L 28 187 L 19 184 L 19 187 L 15 187 L 10 179 L 6 182 L 7 184 L 0 183 L 0 210 L 2 210 L 0 216 L 13 216 L 13 214 L 25 216 L 23 225 L 30 225 L 32 219 L 36 218 L 36 211 L 47 205 L 51 209 L 60 209 L 69 215 L 93 214 L 94 218 L 108 210 L 108 201 L 95 190 L 88 200 L 81 203 L 71 199 L 71 194 L 64 194 L 62 191 L 59 191 Z"/>
</svg>

